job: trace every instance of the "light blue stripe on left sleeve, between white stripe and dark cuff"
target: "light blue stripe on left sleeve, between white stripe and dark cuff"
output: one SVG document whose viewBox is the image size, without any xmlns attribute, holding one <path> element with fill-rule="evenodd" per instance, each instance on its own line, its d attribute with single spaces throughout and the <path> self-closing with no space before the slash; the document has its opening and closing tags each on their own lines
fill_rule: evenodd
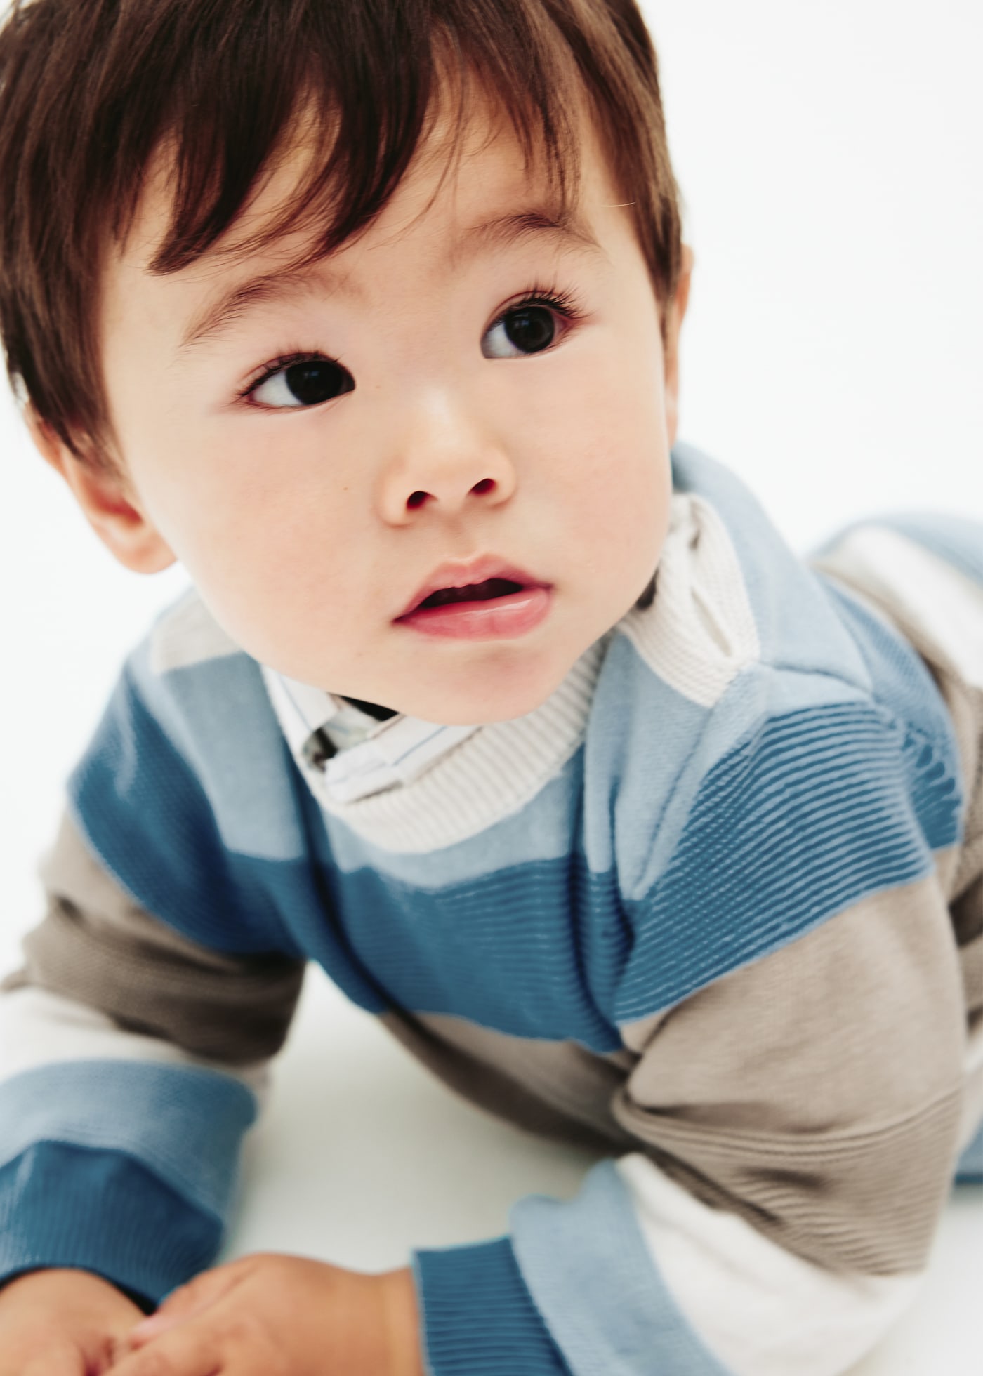
<svg viewBox="0 0 983 1376">
<path fill-rule="evenodd" d="M 220 1221 L 255 1117 L 252 1091 L 218 1071 L 59 1061 L 0 1083 L 0 1165 L 34 1142 L 124 1152 L 189 1205 Z"/>
</svg>

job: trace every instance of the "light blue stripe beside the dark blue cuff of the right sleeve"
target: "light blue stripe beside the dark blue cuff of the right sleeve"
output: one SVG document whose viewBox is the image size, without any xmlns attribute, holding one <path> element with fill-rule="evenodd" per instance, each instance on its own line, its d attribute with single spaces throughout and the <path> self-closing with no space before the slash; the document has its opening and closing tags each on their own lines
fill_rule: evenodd
<svg viewBox="0 0 983 1376">
<path fill-rule="evenodd" d="M 659 1274 L 614 1164 L 575 1200 L 512 1208 L 523 1280 L 575 1376 L 728 1376 Z"/>
</svg>

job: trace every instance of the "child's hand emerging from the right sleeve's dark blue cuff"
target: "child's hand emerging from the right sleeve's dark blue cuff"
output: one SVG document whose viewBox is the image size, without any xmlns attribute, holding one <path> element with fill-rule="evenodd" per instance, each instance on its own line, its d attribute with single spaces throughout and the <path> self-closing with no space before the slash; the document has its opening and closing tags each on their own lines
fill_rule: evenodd
<svg viewBox="0 0 983 1376">
<path fill-rule="evenodd" d="M 409 1270 L 256 1252 L 173 1291 L 106 1376 L 423 1376 Z"/>
</svg>

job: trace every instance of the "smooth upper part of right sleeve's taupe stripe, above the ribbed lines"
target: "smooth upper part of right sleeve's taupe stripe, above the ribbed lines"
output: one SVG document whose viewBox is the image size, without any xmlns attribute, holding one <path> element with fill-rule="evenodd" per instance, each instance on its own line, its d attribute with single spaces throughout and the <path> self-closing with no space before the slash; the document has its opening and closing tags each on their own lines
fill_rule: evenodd
<svg viewBox="0 0 983 1376">
<path fill-rule="evenodd" d="M 829 1132 L 907 1113 L 954 1087 L 965 1046 L 939 885 L 873 894 L 694 993 L 654 1038 L 647 1020 L 621 1032 L 647 1049 L 633 1097 L 687 1121 Z"/>
</svg>

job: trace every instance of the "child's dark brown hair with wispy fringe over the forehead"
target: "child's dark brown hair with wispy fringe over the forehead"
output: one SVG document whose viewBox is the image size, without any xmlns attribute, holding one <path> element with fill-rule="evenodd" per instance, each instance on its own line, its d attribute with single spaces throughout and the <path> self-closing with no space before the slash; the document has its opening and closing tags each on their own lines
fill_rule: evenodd
<svg viewBox="0 0 983 1376">
<path fill-rule="evenodd" d="M 306 113 L 319 147 L 264 246 L 317 223 L 311 259 L 385 206 L 469 78 L 578 187 L 577 107 L 596 121 L 659 303 L 680 271 L 679 194 L 655 52 L 635 0 L 12 0 L 0 28 L 0 337 L 22 403 L 80 460 L 113 466 L 98 347 L 101 266 L 151 158 L 172 158 L 176 272 L 235 222 Z"/>
</svg>

